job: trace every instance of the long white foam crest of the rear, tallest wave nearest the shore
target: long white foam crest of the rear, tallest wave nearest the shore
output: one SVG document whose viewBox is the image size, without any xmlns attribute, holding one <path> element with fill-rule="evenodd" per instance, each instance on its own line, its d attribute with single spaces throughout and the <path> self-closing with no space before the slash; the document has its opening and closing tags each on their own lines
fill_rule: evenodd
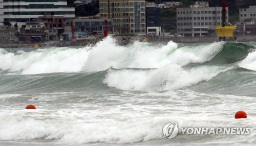
<svg viewBox="0 0 256 146">
<path fill-rule="evenodd" d="M 45 48 L 17 54 L 1 49 L 0 69 L 18 74 L 50 72 L 100 71 L 114 68 L 160 68 L 168 64 L 186 65 L 210 60 L 222 48 L 221 42 L 199 46 L 182 46 L 170 41 L 166 45 L 134 42 L 119 46 L 107 37 L 95 46 L 84 48 Z"/>
</svg>

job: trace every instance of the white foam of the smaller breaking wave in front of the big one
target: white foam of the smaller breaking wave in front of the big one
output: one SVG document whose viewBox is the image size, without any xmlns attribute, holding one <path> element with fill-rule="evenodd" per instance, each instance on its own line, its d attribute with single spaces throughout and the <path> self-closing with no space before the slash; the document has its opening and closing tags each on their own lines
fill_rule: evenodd
<svg viewBox="0 0 256 146">
<path fill-rule="evenodd" d="M 109 70 L 104 83 L 121 90 L 173 90 L 208 81 L 232 67 L 199 66 L 183 68 L 177 64 L 151 70 Z"/>
</svg>

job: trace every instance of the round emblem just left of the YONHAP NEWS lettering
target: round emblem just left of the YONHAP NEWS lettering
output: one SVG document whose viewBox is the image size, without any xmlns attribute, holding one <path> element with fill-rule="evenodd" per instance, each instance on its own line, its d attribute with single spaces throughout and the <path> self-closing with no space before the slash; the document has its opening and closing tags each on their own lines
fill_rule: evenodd
<svg viewBox="0 0 256 146">
<path fill-rule="evenodd" d="M 167 123 L 163 126 L 163 135 L 166 140 L 176 137 L 178 132 L 178 124 L 176 122 Z"/>
</svg>

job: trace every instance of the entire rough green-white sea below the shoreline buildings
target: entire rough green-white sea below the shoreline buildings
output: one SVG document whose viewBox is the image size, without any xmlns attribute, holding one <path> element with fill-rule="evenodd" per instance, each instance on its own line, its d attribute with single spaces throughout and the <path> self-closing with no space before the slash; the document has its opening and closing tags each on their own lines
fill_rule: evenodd
<svg viewBox="0 0 256 146">
<path fill-rule="evenodd" d="M 119 46 L 107 37 L 80 48 L 0 48 L 0 145 L 254 145 L 255 46 Z M 246 119 L 234 119 L 239 110 Z M 170 122 L 250 134 L 165 140 Z"/>
</svg>

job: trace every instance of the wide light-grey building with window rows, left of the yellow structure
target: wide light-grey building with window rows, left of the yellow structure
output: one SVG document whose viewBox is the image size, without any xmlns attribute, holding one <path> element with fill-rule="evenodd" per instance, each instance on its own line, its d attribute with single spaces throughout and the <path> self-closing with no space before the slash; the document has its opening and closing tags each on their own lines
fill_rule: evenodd
<svg viewBox="0 0 256 146">
<path fill-rule="evenodd" d="M 226 8 L 228 22 L 228 8 Z M 183 36 L 212 35 L 222 22 L 222 7 L 209 7 L 208 2 L 196 2 L 189 8 L 177 8 L 177 33 Z"/>
</svg>

